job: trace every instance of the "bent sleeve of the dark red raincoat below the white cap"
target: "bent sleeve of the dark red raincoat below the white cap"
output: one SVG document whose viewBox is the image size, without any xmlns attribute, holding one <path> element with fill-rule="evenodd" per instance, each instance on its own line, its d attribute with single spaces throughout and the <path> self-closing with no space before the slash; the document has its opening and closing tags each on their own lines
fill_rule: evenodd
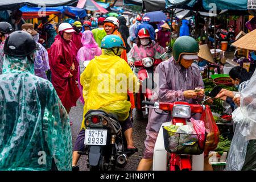
<svg viewBox="0 0 256 182">
<path fill-rule="evenodd" d="M 66 68 L 64 64 L 64 56 L 61 44 L 56 44 L 49 49 L 49 64 L 52 68 L 56 68 L 60 77 L 67 78 L 70 73 L 70 69 Z"/>
</svg>

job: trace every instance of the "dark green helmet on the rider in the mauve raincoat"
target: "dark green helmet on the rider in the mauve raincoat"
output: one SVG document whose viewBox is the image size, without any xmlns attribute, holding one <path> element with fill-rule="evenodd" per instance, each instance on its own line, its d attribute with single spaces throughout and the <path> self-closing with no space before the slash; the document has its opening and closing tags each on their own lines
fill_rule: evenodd
<svg viewBox="0 0 256 182">
<path fill-rule="evenodd" d="M 183 54 L 196 54 L 199 52 L 199 45 L 194 38 L 190 36 L 180 36 L 176 39 L 172 53 L 174 60 L 179 63 Z"/>
</svg>

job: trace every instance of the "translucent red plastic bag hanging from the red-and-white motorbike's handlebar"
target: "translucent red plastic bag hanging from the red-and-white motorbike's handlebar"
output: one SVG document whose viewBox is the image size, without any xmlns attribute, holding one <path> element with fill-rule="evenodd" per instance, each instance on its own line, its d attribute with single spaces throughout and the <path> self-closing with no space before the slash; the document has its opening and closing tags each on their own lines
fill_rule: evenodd
<svg viewBox="0 0 256 182">
<path fill-rule="evenodd" d="M 205 131 L 207 133 L 204 154 L 208 155 L 209 151 L 214 150 L 217 147 L 218 137 L 220 135 L 220 131 L 214 121 L 210 106 L 206 106 L 200 120 L 204 121 Z"/>
</svg>

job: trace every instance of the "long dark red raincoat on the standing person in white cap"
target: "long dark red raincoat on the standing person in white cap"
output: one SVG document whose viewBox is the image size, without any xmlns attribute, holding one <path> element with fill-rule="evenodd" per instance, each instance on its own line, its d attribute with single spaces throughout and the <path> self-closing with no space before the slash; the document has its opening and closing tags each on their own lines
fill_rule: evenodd
<svg viewBox="0 0 256 182">
<path fill-rule="evenodd" d="M 76 106 L 80 97 L 79 88 L 76 86 L 78 63 L 76 60 L 76 46 L 57 35 L 55 42 L 48 50 L 49 66 L 52 73 L 52 84 L 66 109 Z M 72 71 L 72 64 L 75 70 Z M 73 76 L 69 78 L 69 73 Z"/>
</svg>

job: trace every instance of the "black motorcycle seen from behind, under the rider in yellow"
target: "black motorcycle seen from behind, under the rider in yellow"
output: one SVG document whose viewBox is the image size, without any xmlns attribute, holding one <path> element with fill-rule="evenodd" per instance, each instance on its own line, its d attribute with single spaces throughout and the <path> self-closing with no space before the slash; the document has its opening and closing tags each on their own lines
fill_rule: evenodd
<svg viewBox="0 0 256 182">
<path fill-rule="evenodd" d="M 103 110 L 89 110 L 85 115 L 85 152 L 87 168 L 90 171 L 113 171 L 116 167 L 124 168 L 133 151 L 126 151 L 127 143 L 113 113 Z"/>
</svg>

